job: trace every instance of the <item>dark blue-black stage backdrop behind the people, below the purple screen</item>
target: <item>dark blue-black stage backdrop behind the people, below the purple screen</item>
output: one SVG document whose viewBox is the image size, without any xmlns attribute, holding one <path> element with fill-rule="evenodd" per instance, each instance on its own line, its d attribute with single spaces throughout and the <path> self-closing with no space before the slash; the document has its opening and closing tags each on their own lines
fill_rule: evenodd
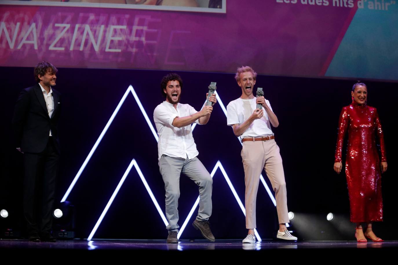
<svg viewBox="0 0 398 265">
<path fill-rule="evenodd" d="M 0 203 L 18 209 L 22 194 L 22 164 L 21 155 L 12 146 L 10 123 L 20 90 L 34 84 L 33 68 L 2 67 L 0 71 L 3 85 L 0 102 L 3 155 Z M 153 110 L 163 101 L 159 84 L 167 73 L 159 70 L 59 69 L 56 89 L 62 93 L 62 156 L 57 201 L 64 196 L 130 85 L 154 126 Z M 217 92 L 225 106 L 241 94 L 233 74 L 178 74 L 184 81 L 181 103 L 189 103 L 197 110 L 205 101 L 210 82 L 217 82 Z M 257 78 L 256 87 L 264 88 L 265 98 L 271 102 L 280 122 L 273 131 L 281 149 L 288 206 L 293 212 L 325 214 L 325 217 L 328 212 L 349 212 L 345 176 L 337 175 L 333 171 L 333 164 L 338 116 L 341 107 L 351 102 L 350 91 L 355 81 L 276 76 Z M 396 239 L 388 232 L 388 228 L 394 225 L 397 217 L 397 170 L 394 164 L 397 156 L 393 147 L 396 146 L 393 125 L 396 121 L 394 91 L 397 83 L 369 81 L 367 85 L 368 104 L 377 107 L 382 121 L 389 163 L 388 171 L 383 175 L 384 223 L 378 224 L 378 235 L 385 239 Z M 193 131 L 198 157 L 210 172 L 220 161 L 238 197 L 244 202 L 241 144 L 226 125 L 226 116 L 220 106 L 220 102 L 215 105 L 207 125 L 198 125 Z M 77 237 L 89 236 L 133 159 L 164 212 L 164 183 L 158 170 L 157 154 L 155 137 L 135 97 L 129 93 L 67 198 L 76 207 Z M 264 172 L 263 175 L 271 187 Z M 211 224 L 215 237 L 242 238 L 246 233 L 244 215 L 219 169 L 213 179 Z M 181 226 L 197 199 L 198 189 L 185 176 L 181 176 L 180 182 Z M 191 226 L 195 214 L 181 239 L 201 238 Z M 261 183 L 257 216 L 261 238 L 273 237 L 277 229 L 276 210 Z M 164 222 L 133 167 L 94 238 L 164 239 L 166 234 Z"/>
</svg>

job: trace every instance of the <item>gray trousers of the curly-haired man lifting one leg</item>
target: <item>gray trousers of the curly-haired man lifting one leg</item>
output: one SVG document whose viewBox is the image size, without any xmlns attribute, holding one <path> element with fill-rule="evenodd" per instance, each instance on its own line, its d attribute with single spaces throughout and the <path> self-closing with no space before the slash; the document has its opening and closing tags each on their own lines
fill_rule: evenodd
<svg viewBox="0 0 398 265">
<path fill-rule="evenodd" d="M 177 223 L 179 176 L 181 173 L 187 175 L 199 186 L 199 212 L 196 219 L 199 221 L 208 220 L 212 210 L 213 179 L 202 162 L 197 157 L 184 159 L 162 155 L 159 160 L 159 170 L 166 190 L 166 218 L 169 222 L 166 228 L 169 231 L 178 231 L 179 228 Z"/>
</svg>

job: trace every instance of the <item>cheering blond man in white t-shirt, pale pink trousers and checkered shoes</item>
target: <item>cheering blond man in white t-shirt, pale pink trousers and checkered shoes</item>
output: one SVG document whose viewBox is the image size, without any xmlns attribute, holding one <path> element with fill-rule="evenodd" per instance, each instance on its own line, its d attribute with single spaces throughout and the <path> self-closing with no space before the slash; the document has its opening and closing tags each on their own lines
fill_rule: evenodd
<svg viewBox="0 0 398 265">
<path fill-rule="evenodd" d="M 243 243 L 255 243 L 256 198 L 261 171 L 265 170 L 275 191 L 276 208 L 279 221 L 277 238 L 297 240 L 286 228 L 289 222 L 287 195 L 282 158 L 275 136 L 271 130 L 278 127 L 279 121 L 273 113 L 271 104 L 263 96 L 253 95 L 257 73 L 250 66 L 238 68 L 235 79 L 242 89 L 242 95 L 227 106 L 227 124 L 234 134 L 242 140 L 242 162 L 245 171 L 245 208 L 248 235 Z M 259 109 L 257 104 L 261 104 Z"/>
</svg>

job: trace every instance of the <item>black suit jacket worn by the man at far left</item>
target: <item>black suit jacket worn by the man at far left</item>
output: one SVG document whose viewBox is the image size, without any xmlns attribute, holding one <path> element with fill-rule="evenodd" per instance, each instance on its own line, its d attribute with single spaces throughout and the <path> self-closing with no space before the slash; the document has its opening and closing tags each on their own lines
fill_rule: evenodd
<svg viewBox="0 0 398 265">
<path fill-rule="evenodd" d="M 60 93 L 53 90 L 54 111 L 51 119 L 47 112 L 46 101 L 39 84 L 21 91 L 15 105 L 12 127 L 16 148 L 22 152 L 40 153 L 46 148 L 49 133 L 53 135 L 55 148 L 60 153 L 58 138 L 58 120 L 60 114 Z"/>
</svg>

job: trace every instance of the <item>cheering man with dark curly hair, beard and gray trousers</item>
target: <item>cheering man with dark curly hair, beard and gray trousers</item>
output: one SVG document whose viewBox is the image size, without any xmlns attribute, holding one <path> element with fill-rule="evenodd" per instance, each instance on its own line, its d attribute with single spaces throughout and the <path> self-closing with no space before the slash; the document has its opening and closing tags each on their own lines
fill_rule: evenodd
<svg viewBox="0 0 398 265">
<path fill-rule="evenodd" d="M 204 238 L 215 241 L 209 226 L 212 203 L 211 194 L 213 179 L 197 158 L 192 136 L 191 124 L 206 124 L 209 121 L 213 106 L 204 106 L 196 111 L 188 104 L 179 103 L 183 82 L 178 74 L 168 74 L 160 83 L 162 95 L 166 100 L 154 110 L 153 119 L 159 135 L 158 160 L 159 169 L 166 190 L 166 227 L 169 234 L 167 243 L 178 243 L 178 198 L 179 176 L 187 175 L 199 186 L 199 211 L 193 226 L 201 231 Z M 217 102 L 215 94 L 210 99 L 213 105 Z"/>
</svg>

